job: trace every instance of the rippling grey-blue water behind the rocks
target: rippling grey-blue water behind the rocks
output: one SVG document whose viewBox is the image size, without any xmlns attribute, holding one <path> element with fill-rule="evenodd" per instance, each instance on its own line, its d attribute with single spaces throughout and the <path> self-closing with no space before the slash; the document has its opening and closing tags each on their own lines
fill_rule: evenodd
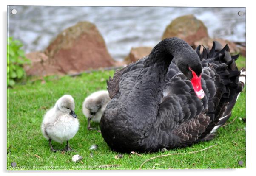
<svg viewBox="0 0 256 176">
<path fill-rule="evenodd" d="M 9 6 L 9 36 L 24 43 L 28 52 L 44 50 L 57 34 L 79 21 L 94 23 L 115 60 L 131 47 L 154 47 L 176 17 L 194 14 L 210 37 L 245 42 L 245 8 Z M 11 14 L 11 9 L 17 14 Z"/>
</svg>

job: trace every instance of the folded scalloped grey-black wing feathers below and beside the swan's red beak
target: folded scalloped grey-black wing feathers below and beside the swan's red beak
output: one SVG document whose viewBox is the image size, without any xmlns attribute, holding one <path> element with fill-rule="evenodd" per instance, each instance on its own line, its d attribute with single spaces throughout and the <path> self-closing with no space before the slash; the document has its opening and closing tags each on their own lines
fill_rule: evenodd
<svg viewBox="0 0 256 176">
<path fill-rule="evenodd" d="M 224 85 L 219 83 L 220 76 L 216 75 L 213 66 L 207 65 L 203 68 L 201 81 L 205 98 L 197 98 L 191 82 L 182 73 L 176 73 L 166 84 L 159 105 L 156 123 L 163 131 L 169 129 L 175 133 L 184 145 L 209 134 L 209 124 L 217 123 L 216 116 L 224 110 L 220 105 Z"/>
</svg>

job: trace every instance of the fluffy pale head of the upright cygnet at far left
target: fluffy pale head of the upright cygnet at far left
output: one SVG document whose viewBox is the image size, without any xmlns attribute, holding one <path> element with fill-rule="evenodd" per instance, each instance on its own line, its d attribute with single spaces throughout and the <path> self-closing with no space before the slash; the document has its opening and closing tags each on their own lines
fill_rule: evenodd
<svg viewBox="0 0 256 176">
<path fill-rule="evenodd" d="M 75 103 L 74 99 L 71 95 L 63 95 L 55 104 L 57 110 L 63 113 L 68 113 L 72 115 L 74 118 L 77 118 L 75 114 Z"/>
</svg>

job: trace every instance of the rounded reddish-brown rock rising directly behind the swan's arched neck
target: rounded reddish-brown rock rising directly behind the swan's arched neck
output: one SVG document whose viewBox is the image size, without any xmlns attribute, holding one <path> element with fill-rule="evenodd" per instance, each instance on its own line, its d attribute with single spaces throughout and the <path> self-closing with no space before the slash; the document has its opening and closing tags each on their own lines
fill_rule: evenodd
<svg viewBox="0 0 256 176">
<path fill-rule="evenodd" d="M 185 40 L 189 45 L 193 45 L 197 40 L 209 37 L 204 23 L 193 15 L 185 15 L 174 19 L 166 27 L 162 39 L 175 36 Z"/>
</svg>

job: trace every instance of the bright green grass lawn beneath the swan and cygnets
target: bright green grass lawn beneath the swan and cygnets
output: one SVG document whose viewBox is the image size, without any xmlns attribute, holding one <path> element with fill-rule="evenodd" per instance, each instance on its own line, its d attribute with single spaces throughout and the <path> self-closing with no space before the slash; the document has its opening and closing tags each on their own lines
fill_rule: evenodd
<svg viewBox="0 0 256 176">
<path fill-rule="evenodd" d="M 238 61 L 239 67 L 245 67 L 245 58 Z M 77 77 L 51 76 L 43 78 L 43 81 L 28 81 L 25 85 L 16 85 L 13 89 L 8 89 L 7 148 L 11 147 L 7 154 L 7 170 L 14 169 L 10 167 L 11 162 L 17 163 L 17 167 L 20 167 L 17 170 L 100 169 L 102 165 L 119 165 L 116 169 L 139 169 L 142 162 L 151 157 L 197 151 L 216 143 L 218 145 L 207 151 L 153 159 L 146 162 L 142 168 L 245 168 L 245 123 L 239 120 L 239 117 L 245 117 L 245 89 L 233 109 L 229 122 L 235 117 L 238 118 L 230 125 L 220 128 L 214 140 L 142 156 L 123 154 L 123 158 L 115 159 L 118 153 L 111 151 L 96 130 L 87 130 L 87 120 L 82 114 L 84 98 L 92 92 L 106 89 L 105 80 L 113 74 L 114 70 L 97 71 Z M 48 141 L 41 134 L 40 125 L 46 109 L 54 106 L 57 99 L 64 94 L 74 97 L 80 129 L 70 140 L 72 148 L 77 152 L 62 154 L 50 151 Z M 92 125 L 100 129 L 99 124 Z M 89 147 L 94 144 L 98 145 L 98 149 L 90 151 Z M 59 149 L 65 146 L 56 142 L 53 142 L 53 145 Z M 93 153 L 93 157 L 90 157 L 90 152 Z M 83 164 L 72 161 L 74 154 L 83 157 Z M 242 166 L 238 164 L 240 160 L 243 161 Z"/>
</svg>

